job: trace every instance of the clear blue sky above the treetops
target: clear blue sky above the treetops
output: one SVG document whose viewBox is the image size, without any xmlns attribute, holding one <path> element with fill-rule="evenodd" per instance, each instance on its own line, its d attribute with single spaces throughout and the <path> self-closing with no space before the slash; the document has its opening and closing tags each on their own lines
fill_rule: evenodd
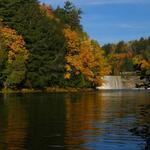
<svg viewBox="0 0 150 150">
<path fill-rule="evenodd" d="M 63 7 L 65 0 L 41 0 Z M 83 11 L 81 24 L 101 45 L 150 36 L 150 0 L 72 0 Z"/>
</svg>

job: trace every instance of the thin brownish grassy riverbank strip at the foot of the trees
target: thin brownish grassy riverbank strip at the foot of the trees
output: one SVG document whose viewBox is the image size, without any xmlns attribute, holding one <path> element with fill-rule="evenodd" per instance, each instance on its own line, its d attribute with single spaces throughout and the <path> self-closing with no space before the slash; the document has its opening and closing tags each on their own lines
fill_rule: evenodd
<svg viewBox="0 0 150 150">
<path fill-rule="evenodd" d="M 10 93 L 67 93 L 67 92 L 90 92 L 94 91 L 94 88 L 59 88 L 59 87 L 48 87 L 44 89 L 2 89 L 0 90 L 1 94 L 10 94 Z"/>
</svg>

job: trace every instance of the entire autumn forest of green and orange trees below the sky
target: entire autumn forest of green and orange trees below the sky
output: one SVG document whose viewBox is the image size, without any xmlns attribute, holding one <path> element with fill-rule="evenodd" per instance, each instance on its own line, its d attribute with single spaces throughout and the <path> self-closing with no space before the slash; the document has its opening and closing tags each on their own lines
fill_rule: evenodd
<svg viewBox="0 0 150 150">
<path fill-rule="evenodd" d="M 0 89 L 96 87 L 105 75 L 150 76 L 150 37 L 105 44 L 89 37 L 82 10 L 37 0 L 0 1 Z"/>
</svg>

